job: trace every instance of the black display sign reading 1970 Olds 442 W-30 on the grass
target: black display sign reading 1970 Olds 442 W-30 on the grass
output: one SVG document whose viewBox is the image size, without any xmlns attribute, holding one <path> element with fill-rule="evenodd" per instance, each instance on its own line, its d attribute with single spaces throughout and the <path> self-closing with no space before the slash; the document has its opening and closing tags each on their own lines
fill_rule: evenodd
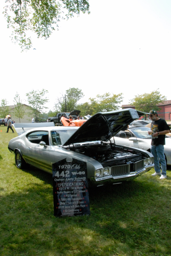
<svg viewBox="0 0 171 256">
<path fill-rule="evenodd" d="M 52 164 L 55 216 L 90 215 L 87 164 L 64 159 Z"/>
</svg>

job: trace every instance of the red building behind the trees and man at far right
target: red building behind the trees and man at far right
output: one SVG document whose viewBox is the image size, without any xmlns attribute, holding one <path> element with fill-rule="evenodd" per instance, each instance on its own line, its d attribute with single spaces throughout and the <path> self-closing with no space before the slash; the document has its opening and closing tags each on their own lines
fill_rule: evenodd
<svg viewBox="0 0 171 256">
<path fill-rule="evenodd" d="M 161 108 L 160 111 L 157 111 L 159 117 L 165 120 L 171 120 L 171 100 L 165 100 L 163 103 L 157 104 L 157 107 Z M 122 105 L 121 108 L 133 108 L 132 105 Z M 149 109 L 150 111 L 150 109 Z"/>
</svg>

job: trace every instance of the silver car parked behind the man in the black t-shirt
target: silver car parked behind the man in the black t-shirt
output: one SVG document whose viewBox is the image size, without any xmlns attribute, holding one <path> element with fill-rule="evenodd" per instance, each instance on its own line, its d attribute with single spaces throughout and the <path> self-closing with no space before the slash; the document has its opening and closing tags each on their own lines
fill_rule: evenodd
<svg viewBox="0 0 171 256">
<path fill-rule="evenodd" d="M 114 140 L 116 144 L 140 148 L 151 152 L 151 135 L 148 131 L 149 127 L 130 127 L 125 131 L 120 131 L 115 135 Z M 171 165 L 171 137 L 165 137 L 164 145 L 165 159 L 167 165 Z"/>
</svg>

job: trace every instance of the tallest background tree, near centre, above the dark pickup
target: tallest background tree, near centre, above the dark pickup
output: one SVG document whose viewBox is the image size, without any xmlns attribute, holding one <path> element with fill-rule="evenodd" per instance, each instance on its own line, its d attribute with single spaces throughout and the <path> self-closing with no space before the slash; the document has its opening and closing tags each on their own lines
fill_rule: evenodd
<svg viewBox="0 0 171 256">
<path fill-rule="evenodd" d="M 61 95 L 55 103 L 55 110 L 57 112 L 71 112 L 77 108 L 78 101 L 84 97 L 84 94 L 81 89 L 70 88 L 66 90 L 65 95 Z"/>
</svg>

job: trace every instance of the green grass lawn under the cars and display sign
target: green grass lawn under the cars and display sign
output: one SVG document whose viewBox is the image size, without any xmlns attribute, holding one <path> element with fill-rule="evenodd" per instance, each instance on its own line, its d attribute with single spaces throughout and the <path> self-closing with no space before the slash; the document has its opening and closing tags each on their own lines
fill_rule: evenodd
<svg viewBox="0 0 171 256">
<path fill-rule="evenodd" d="M 19 170 L 0 126 L 1 256 L 171 256 L 171 171 L 90 188 L 90 216 L 53 216 L 52 175 Z"/>
</svg>

